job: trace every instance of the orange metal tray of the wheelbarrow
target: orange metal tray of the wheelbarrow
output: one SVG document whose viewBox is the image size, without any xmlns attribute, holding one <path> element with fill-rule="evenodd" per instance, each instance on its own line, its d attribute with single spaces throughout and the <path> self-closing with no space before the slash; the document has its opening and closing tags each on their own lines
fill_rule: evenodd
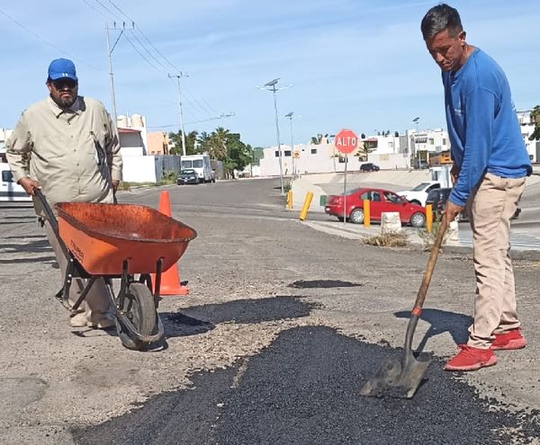
<svg viewBox="0 0 540 445">
<path fill-rule="evenodd" d="M 129 260 L 128 273 L 156 271 L 173 266 L 197 236 L 180 221 L 145 206 L 59 202 L 58 233 L 85 271 L 119 275 Z"/>
</svg>

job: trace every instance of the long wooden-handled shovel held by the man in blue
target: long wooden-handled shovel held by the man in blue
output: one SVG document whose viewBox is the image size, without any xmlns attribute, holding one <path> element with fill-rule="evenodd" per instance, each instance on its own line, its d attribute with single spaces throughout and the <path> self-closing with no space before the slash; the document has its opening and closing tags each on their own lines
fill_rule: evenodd
<svg viewBox="0 0 540 445">
<path fill-rule="evenodd" d="M 412 337 L 417 323 L 419 322 L 419 316 L 422 313 L 422 306 L 424 305 L 426 293 L 428 292 L 429 281 L 431 281 L 435 263 L 437 263 L 437 255 L 443 244 L 447 226 L 448 221 L 445 213 L 443 214 L 443 218 L 437 230 L 435 242 L 431 248 L 428 265 L 426 266 L 426 271 L 424 271 L 424 278 L 420 284 L 417 299 L 410 312 L 409 325 L 407 326 L 407 334 L 405 334 L 405 346 L 401 360 L 385 360 L 374 377 L 367 380 L 360 389 L 361 396 L 412 398 L 422 383 L 431 360 L 417 360 L 414 357 L 411 351 Z"/>
</svg>

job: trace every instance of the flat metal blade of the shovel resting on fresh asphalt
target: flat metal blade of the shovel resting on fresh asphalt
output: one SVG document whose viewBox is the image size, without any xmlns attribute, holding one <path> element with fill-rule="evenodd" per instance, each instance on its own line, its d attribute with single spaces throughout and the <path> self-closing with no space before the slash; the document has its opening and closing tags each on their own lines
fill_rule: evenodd
<svg viewBox="0 0 540 445">
<path fill-rule="evenodd" d="M 361 396 L 412 398 L 419 388 L 431 360 L 416 360 L 413 355 L 401 360 L 383 361 L 373 378 L 360 389 Z"/>
</svg>

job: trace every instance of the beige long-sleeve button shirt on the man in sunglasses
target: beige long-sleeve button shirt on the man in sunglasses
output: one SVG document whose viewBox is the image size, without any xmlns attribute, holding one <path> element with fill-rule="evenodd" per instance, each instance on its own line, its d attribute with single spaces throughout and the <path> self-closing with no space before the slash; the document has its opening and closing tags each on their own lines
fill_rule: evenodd
<svg viewBox="0 0 540 445">
<path fill-rule="evenodd" d="M 51 207 L 112 202 L 111 181 L 121 180 L 116 129 L 103 104 L 88 97 L 78 96 L 67 111 L 50 97 L 34 103 L 23 111 L 6 148 L 14 180 L 39 182 Z"/>
</svg>

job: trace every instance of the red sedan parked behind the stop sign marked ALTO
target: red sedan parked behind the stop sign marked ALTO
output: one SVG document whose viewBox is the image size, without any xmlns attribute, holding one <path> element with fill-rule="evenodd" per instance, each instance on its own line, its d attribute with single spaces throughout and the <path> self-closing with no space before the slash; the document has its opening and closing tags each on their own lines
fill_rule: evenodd
<svg viewBox="0 0 540 445">
<path fill-rule="evenodd" d="M 325 212 L 343 221 L 343 195 L 330 195 Z M 412 227 L 426 225 L 426 209 L 417 204 L 411 204 L 393 191 L 383 189 L 362 188 L 347 194 L 345 215 L 356 224 L 364 222 L 364 200 L 370 201 L 370 219 L 380 221 L 381 214 L 386 211 L 396 211 L 400 214 L 401 224 Z"/>
</svg>

